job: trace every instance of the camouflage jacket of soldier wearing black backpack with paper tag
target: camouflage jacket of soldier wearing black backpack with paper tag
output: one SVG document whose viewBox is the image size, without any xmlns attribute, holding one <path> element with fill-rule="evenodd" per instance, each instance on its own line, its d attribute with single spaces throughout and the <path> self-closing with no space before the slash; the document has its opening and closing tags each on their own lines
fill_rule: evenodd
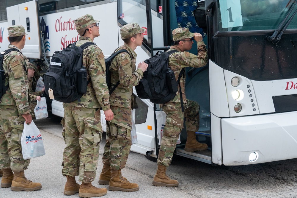
<svg viewBox="0 0 297 198">
<path fill-rule="evenodd" d="M 92 40 L 89 37 L 81 36 L 76 46 Z M 77 100 L 71 103 L 63 103 L 64 106 L 100 108 L 103 111 L 109 110 L 109 91 L 105 79 L 104 55 L 98 46 L 92 45 L 83 51 L 83 66 L 87 69 L 87 80 L 91 82 L 87 85 L 87 93 L 81 96 L 81 102 Z"/>
</svg>

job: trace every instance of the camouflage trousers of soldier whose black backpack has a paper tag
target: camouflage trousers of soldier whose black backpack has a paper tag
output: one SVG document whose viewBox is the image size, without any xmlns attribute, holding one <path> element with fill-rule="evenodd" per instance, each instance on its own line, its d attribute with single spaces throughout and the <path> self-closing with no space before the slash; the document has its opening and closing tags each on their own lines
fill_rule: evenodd
<svg viewBox="0 0 297 198">
<path fill-rule="evenodd" d="M 91 183 L 96 176 L 102 137 L 100 110 L 64 106 L 61 123 L 66 144 L 62 174 L 79 175 L 79 181 Z"/>
</svg>

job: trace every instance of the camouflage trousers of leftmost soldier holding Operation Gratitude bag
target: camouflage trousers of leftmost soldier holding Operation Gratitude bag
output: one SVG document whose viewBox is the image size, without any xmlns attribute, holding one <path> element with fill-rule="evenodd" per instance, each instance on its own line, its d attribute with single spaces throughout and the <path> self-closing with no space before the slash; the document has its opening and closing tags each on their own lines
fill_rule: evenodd
<svg viewBox="0 0 297 198">
<path fill-rule="evenodd" d="M 30 159 L 24 160 L 21 136 L 25 119 L 13 105 L 0 105 L 0 169 L 21 172 L 28 169 Z"/>
</svg>

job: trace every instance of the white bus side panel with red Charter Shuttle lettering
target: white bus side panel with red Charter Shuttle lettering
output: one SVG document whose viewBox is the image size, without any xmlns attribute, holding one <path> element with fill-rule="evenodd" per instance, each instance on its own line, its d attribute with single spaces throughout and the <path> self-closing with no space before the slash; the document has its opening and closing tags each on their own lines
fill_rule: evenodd
<svg viewBox="0 0 297 198">
<path fill-rule="evenodd" d="M 49 45 L 46 48 L 47 56 L 53 56 L 55 51 L 61 51 L 79 39 L 74 20 L 86 14 L 100 21 L 100 36 L 94 38 L 94 42 L 100 47 L 104 56 L 108 57 L 114 52 L 118 47 L 117 2 L 40 16 L 40 23 L 48 28 L 48 38 L 45 36 L 44 39 Z"/>
</svg>

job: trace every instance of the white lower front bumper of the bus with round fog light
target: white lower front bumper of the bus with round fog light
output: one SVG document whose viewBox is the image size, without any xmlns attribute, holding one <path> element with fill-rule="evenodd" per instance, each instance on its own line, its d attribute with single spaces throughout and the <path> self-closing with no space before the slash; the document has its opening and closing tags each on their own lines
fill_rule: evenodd
<svg viewBox="0 0 297 198">
<path fill-rule="evenodd" d="M 223 163 L 226 166 L 297 158 L 297 112 L 222 119 Z M 250 155 L 257 158 L 250 161 Z"/>
</svg>

